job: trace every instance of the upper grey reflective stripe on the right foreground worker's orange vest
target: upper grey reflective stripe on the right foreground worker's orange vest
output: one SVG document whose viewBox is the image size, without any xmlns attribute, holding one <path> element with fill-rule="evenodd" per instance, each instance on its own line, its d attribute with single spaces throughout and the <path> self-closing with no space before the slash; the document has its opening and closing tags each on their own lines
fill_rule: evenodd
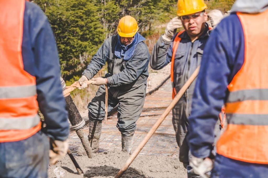
<svg viewBox="0 0 268 178">
<path fill-rule="evenodd" d="M 250 89 L 232 91 L 227 102 L 237 102 L 245 100 L 268 100 L 268 89 Z"/>
</svg>

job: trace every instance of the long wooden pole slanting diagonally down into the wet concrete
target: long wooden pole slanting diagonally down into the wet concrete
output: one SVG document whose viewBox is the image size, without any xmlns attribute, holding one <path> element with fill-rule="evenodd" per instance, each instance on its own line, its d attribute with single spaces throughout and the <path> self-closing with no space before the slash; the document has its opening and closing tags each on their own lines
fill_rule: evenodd
<svg viewBox="0 0 268 178">
<path fill-rule="evenodd" d="M 160 118 L 157 120 L 157 122 L 155 122 L 154 126 L 152 126 L 151 130 L 144 137 L 143 141 L 135 149 L 135 151 L 133 152 L 133 154 L 129 156 L 129 158 L 126 161 L 125 165 L 119 170 L 119 172 L 117 173 L 117 175 L 115 176 L 115 178 L 121 177 L 123 175 L 123 173 L 126 171 L 126 169 L 128 169 L 129 165 L 133 162 L 133 160 L 136 158 L 136 156 L 142 150 L 142 148 L 144 147 L 144 145 L 151 138 L 152 134 L 154 134 L 154 132 L 158 129 L 158 127 L 163 122 L 163 120 L 165 120 L 165 118 L 168 115 L 168 113 L 172 110 L 172 108 L 174 108 L 174 106 L 177 104 L 177 102 L 179 101 L 179 99 L 183 96 L 184 92 L 191 85 L 191 83 L 193 82 L 193 80 L 195 80 L 195 78 L 198 75 L 199 69 L 200 69 L 200 66 L 198 66 L 195 69 L 195 71 L 193 72 L 193 74 L 191 75 L 191 77 L 189 78 L 189 80 L 187 80 L 187 82 L 184 84 L 184 86 L 180 89 L 180 91 L 177 93 L 177 95 L 175 96 L 175 98 L 171 101 L 171 103 L 169 104 L 169 106 L 166 108 L 166 110 L 164 111 L 164 113 L 160 116 Z"/>
</svg>

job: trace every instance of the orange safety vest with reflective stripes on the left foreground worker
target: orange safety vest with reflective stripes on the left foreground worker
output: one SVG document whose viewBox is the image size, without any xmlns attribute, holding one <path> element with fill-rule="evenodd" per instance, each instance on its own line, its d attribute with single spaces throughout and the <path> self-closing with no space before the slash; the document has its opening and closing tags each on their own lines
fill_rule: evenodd
<svg viewBox="0 0 268 178">
<path fill-rule="evenodd" d="M 36 79 L 21 54 L 25 0 L 0 5 L 0 143 L 29 138 L 41 129 Z"/>
</svg>

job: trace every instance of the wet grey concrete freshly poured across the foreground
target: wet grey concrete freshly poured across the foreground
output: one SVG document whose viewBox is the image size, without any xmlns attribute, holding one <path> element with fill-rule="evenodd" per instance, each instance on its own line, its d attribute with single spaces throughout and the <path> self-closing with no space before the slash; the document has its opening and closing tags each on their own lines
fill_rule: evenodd
<svg viewBox="0 0 268 178">
<path fill-rule="evenodd" d="M 48 174 L 49 178 L 57 177 L 55 173 L 61 175 L 58 177 L 65 178 L 110 178 L 117 174 L 128 157 L 128 153 L 121 151 L 95 153 L 93 158 L 88 158 L 86 155 L 75 156 L 76 161 L 84 172 L 84 175 L 78 175 L 75 166 L 69 156 L 66 155 L 56 165 L 49 166 Z M 178 158 L 138 155 L 122 177 L 183 178 L 187 177 L 187 174 Z"/>
</svg>

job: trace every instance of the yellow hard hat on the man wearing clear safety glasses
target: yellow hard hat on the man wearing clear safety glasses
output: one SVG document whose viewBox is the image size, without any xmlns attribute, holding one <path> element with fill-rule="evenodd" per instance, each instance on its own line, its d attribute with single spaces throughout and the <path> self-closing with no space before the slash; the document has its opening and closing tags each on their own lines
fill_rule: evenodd
<svg viewBox="0 0 268 178">
<path fill-rule="evenodd" d="M 207 8 L 204 0 L 178 0 L 178 16 L 184 16 L 203 11 Z"/>
</svg>

